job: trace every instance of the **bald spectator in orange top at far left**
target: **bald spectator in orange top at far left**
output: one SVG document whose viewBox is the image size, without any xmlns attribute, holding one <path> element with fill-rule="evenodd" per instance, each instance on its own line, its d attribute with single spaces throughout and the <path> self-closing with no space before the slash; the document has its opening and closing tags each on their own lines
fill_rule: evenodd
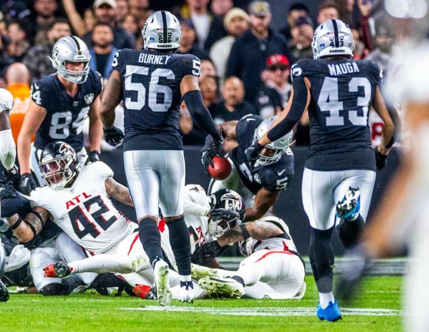
<svg viewBox="0 0 429 332">
<path fill-rule="evenodd" d="M 30 72 L 20 62 L 10 65 L 6 71 L 7 89 L 14 98 L 13 108 L 9 119 L 12 135 L 15 143 L 18 142 L 18 134 L 24 121 L 25 112 L 30 104 Z M 34 136 L 32 141 L 34 140 Z"/>
</svg>

